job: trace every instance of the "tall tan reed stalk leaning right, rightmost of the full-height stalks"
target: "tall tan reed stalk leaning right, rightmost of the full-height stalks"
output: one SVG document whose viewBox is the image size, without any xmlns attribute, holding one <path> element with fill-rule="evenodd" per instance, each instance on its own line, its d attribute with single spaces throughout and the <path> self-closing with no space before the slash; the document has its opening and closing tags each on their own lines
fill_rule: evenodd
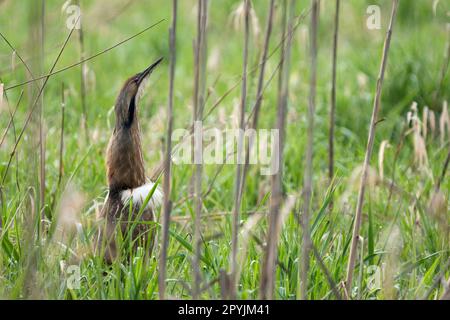
<svg viewBox="0 0 450 320">
<path fill-rule="evenodd" d="M 389 22 L 386 39 L 384 42 L 384 49 L 383 49 L 383 56 L 381 59 L 380 73 L 379 73 L 378 79 L 377 79 L 377 88 L 376 88 L 375 100 L 374 100 L 374 104 L 373 104 L 372 118 L 370 121 L 369 137 L 368 137 L 368 142 L 367 142 L 366 155 L 364 158 L 363 172 L 361 175 L 361 183 L 360 183 L 360 187 L 359 187 L 358 202 L 356 205 L 355 221 L 354 221 L 354 226 L 353 226 L 353 235 L 352 235 L 352 242 L 351 242 L 351 247 L 350 247 L 350 256 L 349 256 L 348 266 L 347 266 L 347 277 L 345 280 L 345 289 L 346 289 L 349 297 L 351 297 L 351 287 L 352 287 L 353 272 L 354 272 L 354 268 L 355 268 L 355 260 L 356 260 L 356 254 L 357 254 L 356 248 L 357 248 L 357 244 L 358 244 L 359 230 L 361 228 L 362 207 L 363 207 L 363 203 L 364 203 L 366 180 L 367 180 L 367 176 L 368 176 L 368 168 L 370 165 L 370 158 L 372 156 L 373 145 L 374 145 L 374 141 L 375 141 L 375 128 L 376 128 L 376 124 L 378 122 L 378 113 L 379 113 L 380 105 L 381 105 L 381 93 L 382 93 L 382 88 L 383 88 L 384 74 L 385 74 L 387 60 L 388 60 L 389 48 L 391 45 L 392 30 L 393 30 L 393 26 L 394 26 L 394 22 L 395 22 L 395 17 L 397 15 L 398 3 L 399 3 L 399 0 L 392 0 L 392 12 L 391 12 L 391 17 L 390 17 L 390 22 Z"/>
</svg>

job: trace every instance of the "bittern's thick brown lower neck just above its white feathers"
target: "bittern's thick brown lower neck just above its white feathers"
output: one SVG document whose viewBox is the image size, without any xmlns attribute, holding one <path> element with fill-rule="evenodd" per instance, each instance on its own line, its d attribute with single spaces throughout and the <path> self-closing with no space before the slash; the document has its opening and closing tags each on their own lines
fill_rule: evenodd
<svg viewBox="0 0 450 320">
<path fill-rule="evenodd" d="M 136 188 L 145 183 L 141 134 L 137 119 L 128 127 L 116 127 L 107 151 L 110 190 Z"/>
</svg>

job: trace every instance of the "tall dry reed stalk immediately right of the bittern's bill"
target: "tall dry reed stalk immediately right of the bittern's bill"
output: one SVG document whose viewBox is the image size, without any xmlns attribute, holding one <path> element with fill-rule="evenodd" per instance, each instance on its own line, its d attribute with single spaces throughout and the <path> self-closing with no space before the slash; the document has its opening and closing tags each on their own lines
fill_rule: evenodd
<svg viewBox="0 0 450 320">
<path fill-rule="evenodd" d="M 170 45 L 170 74 L 169 74 L 169 103 L 167 104 L 167 147 L 164 159 L 164 207 L 162 219 L 162 241 L 161 254 L 159 257 L 159 298 L 166 298 L 166 268 L 167 268 L 167 249 L 169 247 L 169 227 L 170 211 L 172 202 L 170 200 L 171 192 L 171 154 L 172 154 L 172 127 L 173 127 L 173 87 L 175 81 L 176 65 L 176 32 L 177 32 L 177 7 L 178 0 L 172 2 L 172 26 L 169 29 Z"/>
</svg>

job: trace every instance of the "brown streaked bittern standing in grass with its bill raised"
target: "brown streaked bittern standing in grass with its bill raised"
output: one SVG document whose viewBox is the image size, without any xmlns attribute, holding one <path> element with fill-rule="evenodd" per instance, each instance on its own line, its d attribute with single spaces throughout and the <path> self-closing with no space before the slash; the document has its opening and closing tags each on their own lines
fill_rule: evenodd
<svg viewBox="0 0 450 320">
<path fill-rule="evenodd" d="M 109 194 L 100 211 L 99 218 L 104 221 L 100 228 L 98 249 L 104 249 L 105 260 L 112 262 L 117 256 L 116 226 L 119 225 L 124 237 L 130 231 L 132 221 L 154 221 L 153 211 L 161 197 L 156 190 L 151 201 L 137 217 L 140 204 L 149 193 L 152 183 L 145 177 L 142 157 L 141 133 L 137 114 L 137 104 L 154 68 L 162 58 L 150 65 L 143 72 L 129 78 L 123 85 L 115 104 L 116 123 L 106 151 L 106 172 Z M 148 182 L 148 183 L 147 183 Z M 129 201 L 133 199 L 133 212 L 129 214 Z M 151 235 L 148 224 L 136 224 L 132 230 L 131 240 L 148 246 L 151 250 L 154 232 Z M 150 243 L 143 240 L 150 240 Z"/>
</svg>

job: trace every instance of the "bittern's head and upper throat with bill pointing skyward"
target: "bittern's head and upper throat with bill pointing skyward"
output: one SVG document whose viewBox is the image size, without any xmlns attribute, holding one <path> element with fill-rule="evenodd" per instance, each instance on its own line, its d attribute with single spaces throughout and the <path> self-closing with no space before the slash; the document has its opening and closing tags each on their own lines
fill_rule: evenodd
<svg viewBox="0 0 450 320">
<path fill-rule="evenodd" d="M 129 78 L 120 90 L 116 100 L 116 128 L 130 128 L 136 122 L 136 107 L 141 98 L 147 80 L 162 61 L 159 58 L 152 63 L 147 69 Z"/>
</svg>

